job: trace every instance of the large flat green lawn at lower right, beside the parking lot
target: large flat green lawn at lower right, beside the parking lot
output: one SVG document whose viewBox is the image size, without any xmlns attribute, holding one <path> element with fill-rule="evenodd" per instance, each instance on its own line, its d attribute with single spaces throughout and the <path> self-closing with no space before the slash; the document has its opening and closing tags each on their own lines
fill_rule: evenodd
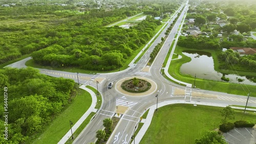
<svg viewBox="0 0 256 144">
<path fill-rule="evenodd" d="M 158 108 L 140 143 L 194 143 L 206 131 L 218 128 L 222 107 L 174 104 Z M 236 111 L 236 119 L 256 123 L 256 113 Z"/>
</svg>

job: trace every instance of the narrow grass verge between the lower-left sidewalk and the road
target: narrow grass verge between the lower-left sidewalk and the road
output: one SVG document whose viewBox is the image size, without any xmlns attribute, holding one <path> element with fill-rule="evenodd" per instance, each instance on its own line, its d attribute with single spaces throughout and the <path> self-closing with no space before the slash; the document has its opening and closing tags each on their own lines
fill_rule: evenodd
<svg viewBox="0 0 256 144">
<path fill-rule="evenodd" d="M 67 144 L 71 144 L 72 142 L 74 142 L 74 140 L 77 138 L 77 136 L 82 132 L 82 130 L 84 128 L 86 128 L 87 124 L 90 123 L 92 117 L 95 115 L 95 112 L 90 113 L 90 115 L 86 118 L 86 120 L 83 121 L 83 123 L 79 126 L 79 128 L 73 133 L 73 137 L 74 139 L 72 139 L 71 137 L 68 139 L 68 141 L 66 142 Z"/>
</svg>

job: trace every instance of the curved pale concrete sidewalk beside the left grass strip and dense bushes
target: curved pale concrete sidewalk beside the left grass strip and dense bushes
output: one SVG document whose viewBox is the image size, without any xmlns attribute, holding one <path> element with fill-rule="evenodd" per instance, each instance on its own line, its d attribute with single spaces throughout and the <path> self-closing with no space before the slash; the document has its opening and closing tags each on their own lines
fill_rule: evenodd
<svg viewBox="0 0 256 144">
<path fill-rule="evenodd" d="M 89 88 L 87 88 L 85 85 L 81 85 L 79 88 L 81 89 L 84 89 L 86 91 L 88 91 L 91 96 L 92 96 L 92 104 L 91 106 L 89 107 L 89 109 L 86 111 L 86 113 L 84 113 L 81 118 L 75 123 L 75 125 L 72 127 L 72 132 L 74 133 L 77 128 L 83 123 L 84 120 L 86 120 L 86 118 L 88 117 L 88 115 L 93 112 L 95 109 L 95 106 L 96 106 L 96 103 L 97 103 L 97 97 L 96 97 L 96 94 Z M 65 143 L 69 138 L 71 137 L 71 130 L 69 130 L 65 136 L 63 136 L 58 144 L 63 144 Z"/>
</svg>

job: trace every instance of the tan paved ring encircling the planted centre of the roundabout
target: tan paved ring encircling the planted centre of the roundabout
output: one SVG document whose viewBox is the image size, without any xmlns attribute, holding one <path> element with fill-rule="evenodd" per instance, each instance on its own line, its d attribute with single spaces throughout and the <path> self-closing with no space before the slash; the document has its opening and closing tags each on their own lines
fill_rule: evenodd
<svg viewBox="0 0 256 144">
<path fill-rule="evenodd" d="M 144 97 L 144 96 L 147 96 L 147 95 L 150 95 L 152 93 L 154 93 L 156 90 L 157 90 L 157 84 L 151 80 L 151 79 L 148 79 L 148 78 L 144 78 L 144 77 L 136 77 L 137 79 L 141 79 L 141 80 L 144 80 L 144 81 L 147 81 L 148 83 L 151 84 L 151 88 L 146 90 L 145 92 L 140 92 L 140 93 L 135 93 L 135 92 L 128 92 L 126 90 L 124 90 L 121 85 L 123 82 L 127 81 L 127 80 L 131 80 L 135 78 L 135 77 L 128 77 L 128 78 L 124 78 L 124 79 L 121 79 L 119 81 L 117 81 L 117 83 L 115 84 L 115 88 L 117 90 L 117 92 L 125 95 L 125 96 L 132 96 L 132 97 Z"/>
</svg>

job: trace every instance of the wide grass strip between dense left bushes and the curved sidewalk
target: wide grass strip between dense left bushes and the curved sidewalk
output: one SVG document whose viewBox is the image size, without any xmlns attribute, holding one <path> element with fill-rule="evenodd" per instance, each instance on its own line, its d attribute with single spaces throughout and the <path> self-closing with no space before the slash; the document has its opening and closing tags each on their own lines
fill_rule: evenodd
<svg viewBox="0 0 256 144">
<path fill-rule="evenodd" d="M 92 104 L 90 93 L 80 88 L 77 90 L 77 93 L 72 104 L 61 112 L 53 122 L 46 127 L 44 133 L 40 134 L 37 139 L 34 139 L 33 143 L 57 143 L 70 130 L 69 121 L 71 120 L 73 124 L 75 124 L 88 110 Z"/>
</svg>

